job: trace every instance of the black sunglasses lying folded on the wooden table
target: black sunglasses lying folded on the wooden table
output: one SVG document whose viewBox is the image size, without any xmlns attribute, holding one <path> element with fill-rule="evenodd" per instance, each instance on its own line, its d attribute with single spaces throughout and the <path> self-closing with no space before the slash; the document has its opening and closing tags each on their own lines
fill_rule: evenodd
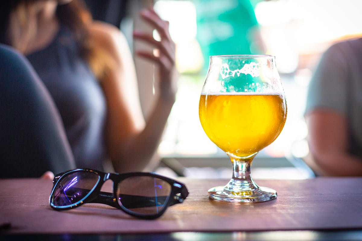
<svg viewBox="0 0 362 241">
<path fill-rule="evenodd" d="M 113 193 L 101 191 L 112 180 Z M 189 194 L 186 186 L 155 173 L 105 173 L 94 169 L 73 169 L 54 177 L 49 204 L 67 210 L 84 203 L 103 203 L 136 216 L 154 219 L 168 206 L 182 203 Z"/>
</svg>

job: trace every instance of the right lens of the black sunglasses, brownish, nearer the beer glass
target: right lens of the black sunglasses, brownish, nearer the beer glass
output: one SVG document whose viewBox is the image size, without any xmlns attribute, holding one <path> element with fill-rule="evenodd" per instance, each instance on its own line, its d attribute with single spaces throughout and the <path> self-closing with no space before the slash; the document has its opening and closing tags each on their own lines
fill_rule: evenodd
<svg viewBox="0 0 362 241">
<path fill-rule="evenodd" d="M 171 185 L 151 176 L 128 177 L 118 184 L 119 205 L 131 212 L 155 215 L 161 212 L 171 194 Z"/>
</svg>

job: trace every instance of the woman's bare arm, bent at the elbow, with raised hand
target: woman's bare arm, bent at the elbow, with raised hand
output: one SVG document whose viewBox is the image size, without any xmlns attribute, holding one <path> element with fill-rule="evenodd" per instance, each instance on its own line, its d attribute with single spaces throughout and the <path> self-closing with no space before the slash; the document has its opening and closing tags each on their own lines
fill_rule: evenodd
<svg viewBox="0 0 362 241">
<path fill-rule="evenodd" d="M 143 40 L 159 50 L 138 51 L 138 55 L 150 60 L 159 69 L 159 83 L 155 106 L 148 120 L 144 120 L 138 93 L 134 61 L 127 41 L 114 26 L 94 23 L 90 33 L 97 44 L 111 56 L 115 65 L 101 85 L 105 92 L 108 108 L 107 143 L 113 167 L 116 172 L 132 172 L 152 169 L 158 163 L 152 159 L 176 95 L 175 47 L 168 33 L 168 22 L 161 20 L 152 9 L 144 10 L 141 17 L 160 33 L 161 41 L 152 34 L 136 32 L 135 38 Z"/>
</svg>

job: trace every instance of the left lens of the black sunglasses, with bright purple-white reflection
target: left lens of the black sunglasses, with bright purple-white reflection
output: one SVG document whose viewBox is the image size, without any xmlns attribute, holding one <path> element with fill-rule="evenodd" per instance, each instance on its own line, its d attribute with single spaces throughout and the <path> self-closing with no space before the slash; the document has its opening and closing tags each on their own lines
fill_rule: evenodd
<svg viewBox="0 0 362 241">
<path fill-rule="evenodd" d="M 56 183 L 50 203 L 63 208 L 76 206 L 88 197 L 99 180 L 98 174 L 82 170 L 64 175 Z"/>
</svg>

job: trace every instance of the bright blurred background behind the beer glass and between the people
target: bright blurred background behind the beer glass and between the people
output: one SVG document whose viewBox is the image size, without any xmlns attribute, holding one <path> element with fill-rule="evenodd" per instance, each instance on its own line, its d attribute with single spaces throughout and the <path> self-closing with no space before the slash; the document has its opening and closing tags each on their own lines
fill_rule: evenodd
<svg viewBox="0 0 362 241">
<path fill-rule="evenodd" d="M 111 2 L 111 1 L 110 1 Z M 279 137 L 260 151 L 252 164 L 253 178 L 312 178 L 303 112 L 306 91 L 321 53 L 331 44 L 362 34 L 361 0 L 138 0 L 121 1 L 120 28 L 132 50 L 133 29 L 150 29 L 138 11 L 153 5 L 169 21 L 180 72 L 176 103 L 159 146 L 164 175 L 230 178 L 231 162 L 203 132 L 198 102 L 209 55 L 266 53 L 276 63 L 287 99 L 288 115 Z M 154 33 L 157 39 L 157 33 Z M 144 115 L 152 107 L 156 70 L 135 57 Z M 171 167 L 171 168 L 170 168 Z"/>
</svg>

